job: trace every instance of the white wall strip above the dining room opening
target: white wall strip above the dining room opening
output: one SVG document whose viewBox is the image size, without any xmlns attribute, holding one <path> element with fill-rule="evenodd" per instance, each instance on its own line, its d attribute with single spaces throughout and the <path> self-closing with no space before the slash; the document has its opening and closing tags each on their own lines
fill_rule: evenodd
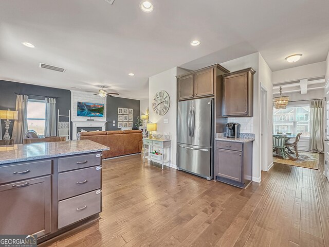
<svg viewBox="0 0 329 247">
<path fill-rule="evenodd" d="M 272 83 L 296 81 L 325 75 L 325 62 L 312 63 L 294 68 L 278 70 L 272 73 Z"/>
</svg>

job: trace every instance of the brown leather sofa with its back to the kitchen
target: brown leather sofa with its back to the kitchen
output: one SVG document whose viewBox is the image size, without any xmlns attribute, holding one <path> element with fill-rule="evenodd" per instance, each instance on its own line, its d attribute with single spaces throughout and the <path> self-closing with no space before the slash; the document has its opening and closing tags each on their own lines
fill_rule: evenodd
<svg viewBox="0 0 329 247">
<path fill-rule="evenodd" d="M 103 152 L 103 158 L 140 153 L 142 151 L 141 130 L 88 131 L 78 134 L 80 140 L 93 140 L 109 147 Z"/>
</svg>

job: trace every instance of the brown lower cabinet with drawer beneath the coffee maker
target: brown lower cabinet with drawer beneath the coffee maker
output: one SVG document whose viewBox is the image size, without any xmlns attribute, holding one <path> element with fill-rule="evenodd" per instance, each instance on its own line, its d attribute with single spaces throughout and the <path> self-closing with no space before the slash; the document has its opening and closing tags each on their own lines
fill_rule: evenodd
<svg viewBox="0 0 329 247">
<path fill-rule="evenodd" d="M 252 181 L 252 142 L 216 140 L 215 181 L 246 188 Z"/>
</svg>

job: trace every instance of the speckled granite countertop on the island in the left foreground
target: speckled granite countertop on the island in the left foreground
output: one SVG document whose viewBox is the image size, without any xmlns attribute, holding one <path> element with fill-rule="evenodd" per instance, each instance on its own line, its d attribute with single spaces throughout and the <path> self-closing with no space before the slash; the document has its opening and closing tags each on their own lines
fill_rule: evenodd
<svg viewBox="0 0 329 247">
<path fill-rule="evenodd" d="M 68 142 L 31 143 L 0 146 L 0 165 L 43 158 L 93 153 L 109 150 L 109 147 L 92 140 L 70 140 Z"/>
</svg>

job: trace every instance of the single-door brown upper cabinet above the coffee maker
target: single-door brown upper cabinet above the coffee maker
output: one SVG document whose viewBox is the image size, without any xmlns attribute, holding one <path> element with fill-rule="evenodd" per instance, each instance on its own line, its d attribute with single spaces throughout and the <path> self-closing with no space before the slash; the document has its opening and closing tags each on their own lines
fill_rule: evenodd
<svg viewBox="0 0 329 247">
<path fill-rule="evenodd" d="M 253 116 L 253 68 L 223 75 L 223 116 Z"/>
</svg>

